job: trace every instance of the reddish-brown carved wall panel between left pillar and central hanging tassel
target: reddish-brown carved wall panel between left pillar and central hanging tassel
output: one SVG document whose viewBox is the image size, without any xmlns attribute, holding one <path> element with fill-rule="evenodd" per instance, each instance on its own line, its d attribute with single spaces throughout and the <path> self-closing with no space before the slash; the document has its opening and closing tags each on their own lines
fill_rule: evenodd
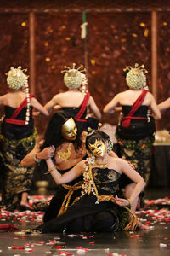
<svg viewBox="0 0 170 256">
<path fill-rule="evenodd" d="M 66 90 L 64 66 L 83 64 L 81 14 L 36 15 L 36 96 L 42 104 Z M 38 125 L 38 122 L 37 122 Z M 41 125 L 42 127 L 42 125 Z M 38 128 L 38 127 L 37 127 Z M 38 128 L 41 132 L 41 129 Z"/>
</svg>

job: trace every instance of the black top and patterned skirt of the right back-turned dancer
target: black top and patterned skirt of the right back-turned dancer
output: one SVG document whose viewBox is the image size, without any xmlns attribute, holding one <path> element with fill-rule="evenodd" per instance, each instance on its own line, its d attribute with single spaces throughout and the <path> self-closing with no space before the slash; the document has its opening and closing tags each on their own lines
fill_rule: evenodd
<svg viewBox="0 0 170 256">
<path fill-rule="evenodd" d="M 123 119 L 128 119 L 128 114 L 132 111 L 133 106 L 122 105 Z M 155 140 L 155 120 L 152 116 L 148 116 L 148 106 L 145 105 L 139 106 L 133 116 L 130 116 L 129 119 L 131 120 L 128 127 L 122 125 L 123 119 L 116 129 L 120 156 L 131 162 L 134 169 L 147 182 L 150 175 L 151 150 Z M 125 179 L 127 180 L 125 185 L 132 183 L 128 178 Z"/>
</svg>

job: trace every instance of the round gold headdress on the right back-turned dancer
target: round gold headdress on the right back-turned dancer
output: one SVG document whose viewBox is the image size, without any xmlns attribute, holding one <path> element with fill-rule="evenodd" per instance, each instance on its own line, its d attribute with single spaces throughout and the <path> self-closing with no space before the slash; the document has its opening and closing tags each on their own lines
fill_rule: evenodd
<svg viewBox="0 0 170 256">
<path fill-rule="evenodd" d="M 128 71 L 126 75 L 128 87 L 137 90 L 146 86 L 146 76 L 144 73 L 148 72 L 144 69 L 144 65 L 139 66 L 138 63 L 135 63 L 134 67 L 127 66 L 123 71 Z"/>
</svg>

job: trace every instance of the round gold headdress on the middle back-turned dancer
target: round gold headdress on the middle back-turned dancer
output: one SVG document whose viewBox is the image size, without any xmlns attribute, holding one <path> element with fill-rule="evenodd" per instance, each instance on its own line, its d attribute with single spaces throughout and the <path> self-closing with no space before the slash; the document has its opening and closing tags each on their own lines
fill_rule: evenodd
<svg viewBox="0 0 170 256">
<path fill-rule="evenodd" d="M 64 82 L 65 85 L 70 88 L 70 89 L 77 89 L 80 87 L 82 84 L 82 72 L 85 71 L 85 69 L 80 70 L 83 66 L 81 65 L 77 69 L 75 68 L 76 64 L 73 63 L 72 68 L 71 67 L 66 67 L 67 69 L 62 70 L 61 73 L 65 72 L 64 76 Z"/>
</svg>

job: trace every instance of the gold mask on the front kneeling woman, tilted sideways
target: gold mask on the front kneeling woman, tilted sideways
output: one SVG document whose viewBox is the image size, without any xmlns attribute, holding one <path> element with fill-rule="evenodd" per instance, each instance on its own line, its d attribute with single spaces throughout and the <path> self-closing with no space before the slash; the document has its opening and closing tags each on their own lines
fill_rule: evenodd
<svg viewBox="0 0 170 256">
<path fill-rule="evenodd" d="M 97 157 L 103 157 L 106 153 L 105 143 L 100 139 L 96 139 L 94 144 L 88 144 L 88 148 Z"/>
</svg>

